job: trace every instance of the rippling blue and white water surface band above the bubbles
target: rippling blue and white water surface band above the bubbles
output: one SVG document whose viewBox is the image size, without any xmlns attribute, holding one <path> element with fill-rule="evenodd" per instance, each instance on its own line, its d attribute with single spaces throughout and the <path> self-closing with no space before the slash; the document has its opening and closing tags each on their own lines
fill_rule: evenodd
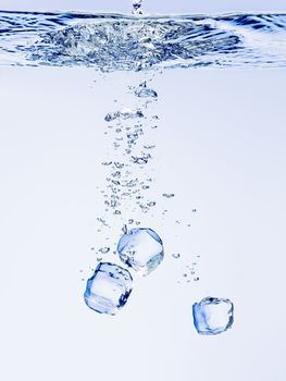
<svg viewBox="0 0 286 381">
<path fill-rule="evenodd" d="M 0 33 L 1 65 L 83 65 L 110 72 L 286 63 L 285 14 L 0 12 Z"/>
</svg>

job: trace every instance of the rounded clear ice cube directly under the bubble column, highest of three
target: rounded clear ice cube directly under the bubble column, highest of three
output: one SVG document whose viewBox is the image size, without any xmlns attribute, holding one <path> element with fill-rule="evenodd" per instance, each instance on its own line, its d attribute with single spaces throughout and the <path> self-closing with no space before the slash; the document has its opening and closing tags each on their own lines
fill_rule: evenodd
<svg viewBox="0 0 286 381">
<path fill-rule="evenodd" d="M 162 239 L 148 228 L 125 232 L 120 238 L 117 251 L 124 263 L 144 276 L 153 271 L 164 258 Z"/>
</svg>

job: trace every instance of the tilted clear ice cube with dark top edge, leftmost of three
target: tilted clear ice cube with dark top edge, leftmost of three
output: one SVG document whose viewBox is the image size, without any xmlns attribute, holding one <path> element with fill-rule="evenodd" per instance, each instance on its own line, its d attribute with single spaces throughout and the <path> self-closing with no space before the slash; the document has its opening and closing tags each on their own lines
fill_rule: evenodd
<svg viewBox="0 0 286 381">
<path fill-rule="evenodd" d="M 99 314 L 115 315 L 128 299 L 133 279 L 128 270 L 101 262 L 87 281 L 84 295 L 87 306 Z"/>
</svg>

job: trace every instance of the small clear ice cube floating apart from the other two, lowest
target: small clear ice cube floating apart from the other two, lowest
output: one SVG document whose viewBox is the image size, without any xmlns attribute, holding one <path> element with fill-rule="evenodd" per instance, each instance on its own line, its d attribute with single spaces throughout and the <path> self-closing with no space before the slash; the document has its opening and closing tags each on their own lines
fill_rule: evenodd
<svg viewBox="0 0 286 381">
<path fill-rule="evenodd" d="M 234 322 L 234 305 L 228 299 L 208 296 L 192 306 L 194 324 L 199 334 L 226 331 Z"/>
</svg>

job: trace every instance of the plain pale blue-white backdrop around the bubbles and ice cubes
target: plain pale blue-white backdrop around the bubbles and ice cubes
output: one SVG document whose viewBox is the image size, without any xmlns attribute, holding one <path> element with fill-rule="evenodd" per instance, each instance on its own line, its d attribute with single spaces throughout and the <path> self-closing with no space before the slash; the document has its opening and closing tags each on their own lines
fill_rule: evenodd
<svg viewBox="0 0 286 381">
<path fill-rule="evenodd" d="M 154 78 L 157 188 L 176 196 L 170 220 L 146 222 L 162 236 L 166 258 L 147 279 L 134 275 L 115 318 L 83 302 L 80 279 L 96 263 L 97 186 L 105 184 L 103 118 L 140 81 L 82 69 L 0 69 L 0 378 L 283 381 L 285 70 L 174 70 Z M 191 228 L 174 231 L 175 218 Z M 171 253 L 178 243 L 184 258 L 201 256 L 199 282 L 177 284 L 185 259 Z M 222 335 L 194 329 L 191 305 L 207 295 L 235 304 L 234 327 Z"/>
</svg>

